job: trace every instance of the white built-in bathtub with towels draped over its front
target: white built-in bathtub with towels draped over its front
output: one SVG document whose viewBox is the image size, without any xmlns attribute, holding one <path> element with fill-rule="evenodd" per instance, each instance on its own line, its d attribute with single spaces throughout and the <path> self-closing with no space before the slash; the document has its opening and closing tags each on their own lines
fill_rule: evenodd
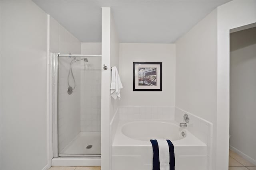
<svg viewBox="0 0 256 170">
<path fill-rule="evenodd" d="M 112 143 L 112 170 L 152 170 L 150 139 L 160 138 L 172 141 L 176 170 L 206 170 L 206 144 L 175 121 L 120 121 Z"/>
</svg>

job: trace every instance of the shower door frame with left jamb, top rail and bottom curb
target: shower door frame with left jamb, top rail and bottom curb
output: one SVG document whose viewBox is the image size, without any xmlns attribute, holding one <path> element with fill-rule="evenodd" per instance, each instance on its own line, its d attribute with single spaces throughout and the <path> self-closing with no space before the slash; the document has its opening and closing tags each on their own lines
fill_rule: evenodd
<svg viewBox="0 0 256 170">
<path fill-rule="evenodd" d="M 58 71 L 59 71 L 59 57 L 101 57 L 101 55 L 61 55 L 60 53 L 52 53 L 49 57 L 50 74 L 48 80 L 49 87 L 49 141 L 48 145 L 48 166 L 100 166 L 101 155 L 96 154 L 58 154 Z M 50 137 L 49 137 L 50 136 Z M 52 140 L 51 140 L 52 139 Z"/>
</svg>

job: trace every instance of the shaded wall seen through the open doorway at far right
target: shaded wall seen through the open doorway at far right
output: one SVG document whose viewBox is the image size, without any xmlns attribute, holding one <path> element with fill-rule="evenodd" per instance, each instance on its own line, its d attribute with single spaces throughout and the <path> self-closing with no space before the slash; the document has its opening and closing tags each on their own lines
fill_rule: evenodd
<svg viewBox="0 0 256 170">
<path fill-rule="evenodd" d="M 230 145 L 256 162 L 256 27 L 230 34 Z"/>
</svg>

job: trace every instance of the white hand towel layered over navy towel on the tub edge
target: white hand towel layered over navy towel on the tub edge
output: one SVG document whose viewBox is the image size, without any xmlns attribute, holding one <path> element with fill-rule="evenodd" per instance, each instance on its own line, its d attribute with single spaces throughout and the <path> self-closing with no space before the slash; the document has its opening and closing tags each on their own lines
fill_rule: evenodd
<svg viewBox="0 0 256 170">
<path fill-rule="evenodd" d="M 156 139 L 159 148 L 160 170 L 170 170 L 169 145 L 165 139 Z"/>
</svg>

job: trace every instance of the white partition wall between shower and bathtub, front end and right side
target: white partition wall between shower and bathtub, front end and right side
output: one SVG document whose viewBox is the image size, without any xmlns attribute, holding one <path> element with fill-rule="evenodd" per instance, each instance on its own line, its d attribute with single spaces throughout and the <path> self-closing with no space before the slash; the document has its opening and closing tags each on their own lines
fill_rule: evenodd
<svg viewBox="0 0 256 170">
<path fill-rule="evenodd" d="M 118 109 L 118 103 L 110 96 L 111 67 L 118 68 L 119 42 L 111 10 L 102 8 L 102 65 L 108 66 L 104 70 L 102 65 L 101 86 L 101 169 L 111 169 L 111 139 L 110 120 Z"/>
</svg>

